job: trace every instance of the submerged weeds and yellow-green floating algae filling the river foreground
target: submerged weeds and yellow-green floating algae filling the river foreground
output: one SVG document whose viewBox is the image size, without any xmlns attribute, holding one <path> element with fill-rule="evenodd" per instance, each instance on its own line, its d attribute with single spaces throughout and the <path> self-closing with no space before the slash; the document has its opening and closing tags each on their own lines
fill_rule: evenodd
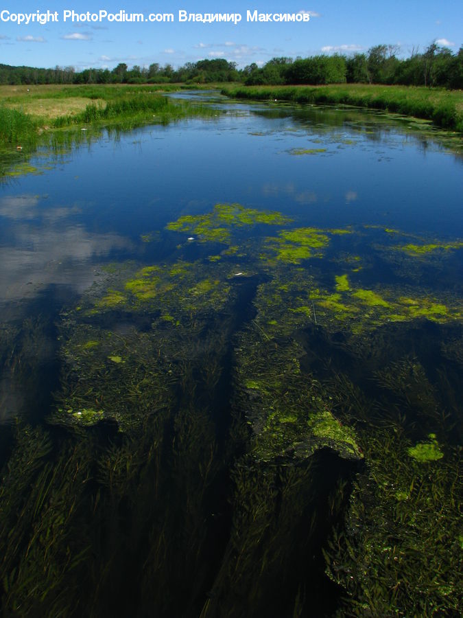
<svg viewBox="0 0 463 618">
<path fill-rule="evenodd" d="M 460 240 L 217 204 L 139 242 L 172 250 L 62 308 L 14 426 L 3 613 L 460 615 Z"/>
</svg>

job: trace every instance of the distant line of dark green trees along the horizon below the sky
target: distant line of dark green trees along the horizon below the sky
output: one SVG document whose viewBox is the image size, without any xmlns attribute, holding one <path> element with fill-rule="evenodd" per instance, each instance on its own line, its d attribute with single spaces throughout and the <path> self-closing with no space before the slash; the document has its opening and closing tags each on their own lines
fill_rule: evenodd
<svg viewBox="0 0 463 618">
<path fill-rule="evenodd" d="M 353 56 L 311 56 L 272 58 L 263 67 L 254 62 L 237 69 L 235 62 L 223 58 L 187 62 L 174 69 L 154 62 L 149 67 L 121 62 L 115 69 L 73 67 L 35 69 L 0 65 L 0 84 L 150 84 L 186 82 L 242 82 L 260 84 L 402 84 L 407 86 L 463 89 L 463 47 L 453 54 L 432 43 L 422 54 L 397 58 L 396 45 L 375 45 L 366 54 Z"/>
</svg>

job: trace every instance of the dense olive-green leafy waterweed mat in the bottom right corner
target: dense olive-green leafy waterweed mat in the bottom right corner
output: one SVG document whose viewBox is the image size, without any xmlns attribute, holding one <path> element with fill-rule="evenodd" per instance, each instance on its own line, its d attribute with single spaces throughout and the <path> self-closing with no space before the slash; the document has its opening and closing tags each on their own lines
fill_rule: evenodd
<svg viewBox="0 0 463 618">
<path fill-rule="evenodd" d="M 355 385 L 346 374 L 335 374 L 330 381 L 337 416 L 357 419 L 357 441 L 367 463 L 355 479 L 344 523 L 333 531 L 325 551 L 327 574 L 346 593 L 340 615 L 357 615 L 359 607 L 375 616 L 453 615 L 460 605 L 461 586 L 455 578 L 460 563 L 455 542 L 461 527 L 459 448 L 446 448 L 443 457 L 434 433 L 409 446 L 416 428 L 407 420 L 413 410 L 416 419 L 419 407 L 420 426 L 440 424 L 447 435 L 454 426 L 442 424 L 436 415 L 442 391 L 429 382 L 426 386 L 420 363 L 401 365 L 391 367 L 379 392 L 361 384 L 371 376 L 367 363 Z M 399 392 L 403 413 L 397 415 L 391 406 Z M 376 415 L 375 408 L 381 413 Z M 422 456 L 427 465 L 421 465 Z M 410 465 L 411 458 L 416 465 Z"/>
</svg>

